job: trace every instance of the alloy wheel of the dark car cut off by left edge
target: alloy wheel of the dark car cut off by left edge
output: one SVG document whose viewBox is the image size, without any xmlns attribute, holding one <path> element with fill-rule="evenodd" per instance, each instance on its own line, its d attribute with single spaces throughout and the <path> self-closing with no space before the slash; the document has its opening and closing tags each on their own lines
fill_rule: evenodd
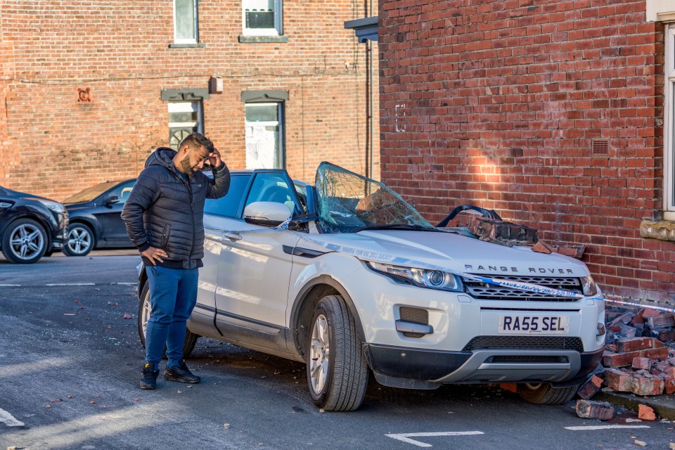
<svg viewBox="0 0 675 450">
<path fill-rule="evenodd" d="M 2 254 L 9 262 L 32 264 L 44 256 L 48 243 L 47 233 L 37 221 L 18 219 L 2 236 Z"/>
</svg>

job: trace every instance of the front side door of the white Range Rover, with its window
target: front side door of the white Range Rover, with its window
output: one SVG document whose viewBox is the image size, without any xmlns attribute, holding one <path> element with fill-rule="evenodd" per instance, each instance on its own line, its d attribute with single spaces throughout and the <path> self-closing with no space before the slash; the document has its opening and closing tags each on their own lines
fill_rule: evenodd
<svg viewBox="0 0 675 450">
<path fill-rule="evenodd" d="M 248 224 L 246 205 L 259 201 L 284 203 L 293 212 L 299 203 L 285 170 L 253 172 L 236 221 L 226 224 L 218 268 L 216 305 L 219 320 L 265 333 L 286 326 L 292 255 L 299 238 L 289 231 Z"/>
</svg>

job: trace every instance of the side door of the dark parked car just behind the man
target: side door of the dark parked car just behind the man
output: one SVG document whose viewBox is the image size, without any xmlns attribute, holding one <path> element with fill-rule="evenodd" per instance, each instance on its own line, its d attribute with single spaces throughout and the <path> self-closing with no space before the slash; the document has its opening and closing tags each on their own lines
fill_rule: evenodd
<svg viewBox="0 0 675 450">
<path fill-rule="evenodd" d="M 115 188 L 101 195 L 96 199 L 96 212 L 94 215 L 101 225 L 101 236 L 99 240 L 105 241 L 106 245 L 128 245 L 131 247 L 131 240 L 127 235 L 127 227 L 122 220 L 122 208 L 127 202 L 131 189 L 134 188 L 136 180 L 127 181 L 118 184 Z M 106 204 L 105 200 L 111 197 L 117 197 L 116 203 Z"/>
</svg>

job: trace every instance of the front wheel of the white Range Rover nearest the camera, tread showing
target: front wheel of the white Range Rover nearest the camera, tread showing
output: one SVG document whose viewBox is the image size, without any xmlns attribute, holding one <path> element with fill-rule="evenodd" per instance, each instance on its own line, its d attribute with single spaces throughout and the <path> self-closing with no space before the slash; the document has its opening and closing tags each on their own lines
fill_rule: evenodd
<svg viewBox="0 0 675 450">
<path fill-rule="evenodd" d="M 354 411 L 368 386 L 368 364 L 354 316 L 340 295 L 323 297 L 311 319 L 307 343 L 307 383 L 316 406 Z"/>
</svg>

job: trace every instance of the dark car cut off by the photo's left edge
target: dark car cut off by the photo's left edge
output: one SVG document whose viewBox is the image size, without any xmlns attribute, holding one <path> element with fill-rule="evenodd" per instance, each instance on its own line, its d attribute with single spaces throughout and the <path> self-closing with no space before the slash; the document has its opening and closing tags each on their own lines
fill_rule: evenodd
<svg viewBox="0 0 675 450">
<path fill-rule="evenodd" d="M 0 186 L 0 249 L 8 261 L 37 262 L 59 250 L 67 233 L 61 203 Z"/>
</svg>

